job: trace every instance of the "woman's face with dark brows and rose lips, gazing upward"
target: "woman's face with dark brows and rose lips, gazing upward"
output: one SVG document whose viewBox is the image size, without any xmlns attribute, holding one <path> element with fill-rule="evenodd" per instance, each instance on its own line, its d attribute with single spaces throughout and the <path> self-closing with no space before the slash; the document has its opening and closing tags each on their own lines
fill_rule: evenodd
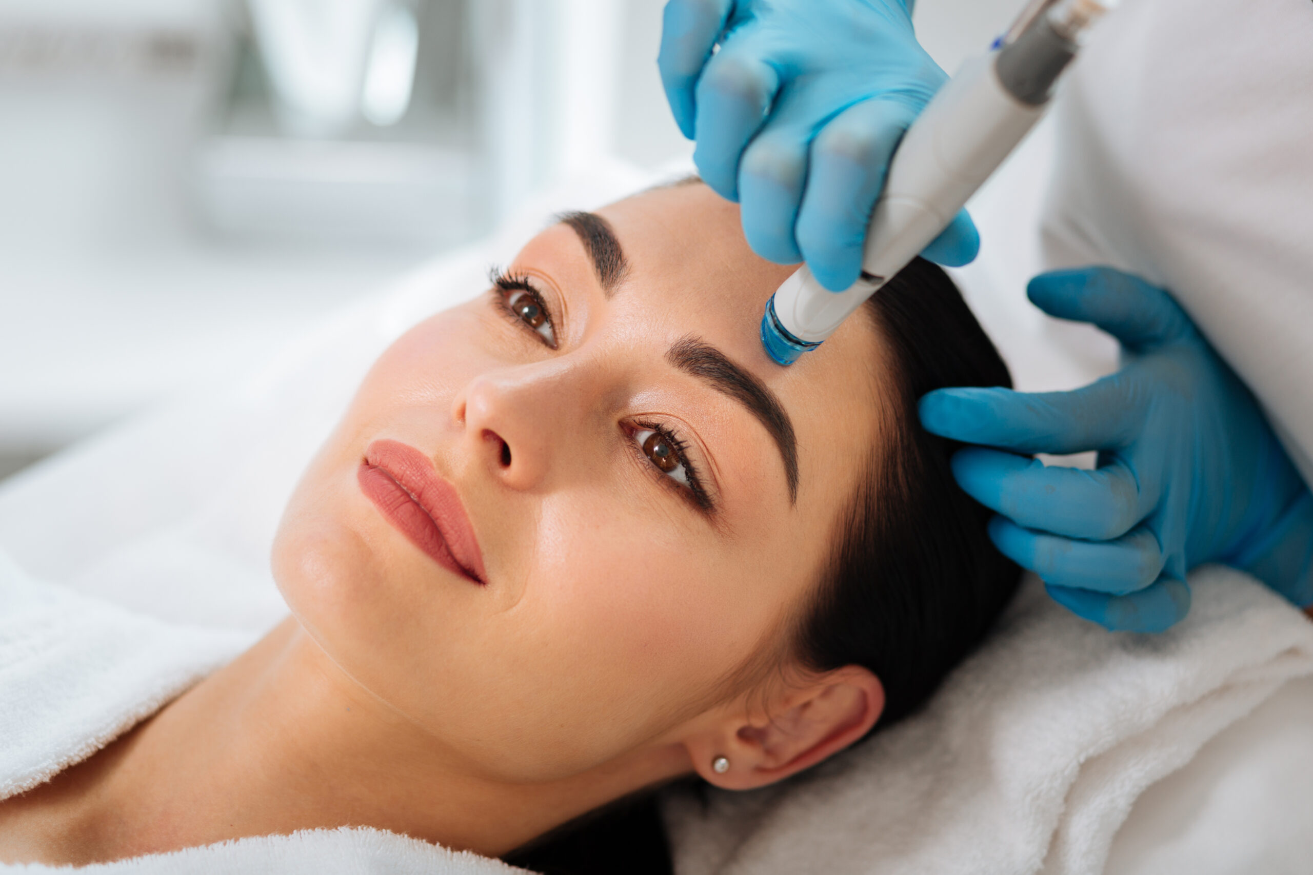
<svg viewBox="0 0 1313 875">
<path fill-rule="evenodd" d="M 806 603 L 876 439 L 873 332 L 772 363 L 758 324 L 792 269 L 734 205 L 684 185 L 600 215 L 383 353 L 274 544 L 327 655 L 500 779 L 712 707 Z"/>
</svg>

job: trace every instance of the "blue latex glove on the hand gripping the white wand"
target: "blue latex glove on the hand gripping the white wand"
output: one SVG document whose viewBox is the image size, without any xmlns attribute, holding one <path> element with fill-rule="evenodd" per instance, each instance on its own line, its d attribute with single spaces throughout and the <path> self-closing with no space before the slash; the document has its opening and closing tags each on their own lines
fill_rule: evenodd
<svg viewBox="0 0 1313 875">
<path fill-rule="evenodd" d="M 947 80 L 911 0 L 670 0 L 658 66 L 699 173 L 742 205 L 752 249 L 851 286 L 889 159 Z M 977 249 L 964 211 L 923 254 L 962 265 Z"/>
</svg>

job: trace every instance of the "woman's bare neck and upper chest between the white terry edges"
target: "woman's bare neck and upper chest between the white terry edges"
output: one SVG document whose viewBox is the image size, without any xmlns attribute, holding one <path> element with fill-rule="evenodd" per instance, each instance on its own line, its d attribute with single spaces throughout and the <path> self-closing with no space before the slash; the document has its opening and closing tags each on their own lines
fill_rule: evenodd
<svg viewBox="0 0 1313 875">
<path fill-rule="evenodd" d="M 13 817 L 32 841 L 12 859 L 46 863 L 334 826 L 496 857 L 688 767 L 670 745 L 551 783 L 481 777 L 288 619 L 110 748 L 0 803 L 0 859 L 22 854 Z"/>
</svg>

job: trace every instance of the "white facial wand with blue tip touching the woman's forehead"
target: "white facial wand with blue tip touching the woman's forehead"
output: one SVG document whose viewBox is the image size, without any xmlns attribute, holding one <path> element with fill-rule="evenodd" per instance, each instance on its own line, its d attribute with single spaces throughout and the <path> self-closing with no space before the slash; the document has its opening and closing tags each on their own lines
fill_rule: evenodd
<svg viewBox="0 0 1313 875">
<path fill-rule="evenodd" d="M 991 51 L 945 84 L 903 135 L 867 226 L 861 278 L 830 291 L 804 265 L 762 316 L 762 344 L 780 365 L 819 346 L 916 257 L 1044 114 L 1053 83 L 1107 0 L 1032 0 Z"/>
</svg>

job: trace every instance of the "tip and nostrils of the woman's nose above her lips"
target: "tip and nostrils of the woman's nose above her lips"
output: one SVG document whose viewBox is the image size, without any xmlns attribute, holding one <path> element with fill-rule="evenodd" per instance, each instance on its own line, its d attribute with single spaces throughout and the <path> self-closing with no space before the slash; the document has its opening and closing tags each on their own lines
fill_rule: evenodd
<svg viewBox="0 0 1313 875">
<path fill-rule="evenodd" d="M 582 425 L 582 387 L 553 365 L 481 374 L 454 399 L 467 449 L 513 489 L 541 487 Z"/>
</svg>

